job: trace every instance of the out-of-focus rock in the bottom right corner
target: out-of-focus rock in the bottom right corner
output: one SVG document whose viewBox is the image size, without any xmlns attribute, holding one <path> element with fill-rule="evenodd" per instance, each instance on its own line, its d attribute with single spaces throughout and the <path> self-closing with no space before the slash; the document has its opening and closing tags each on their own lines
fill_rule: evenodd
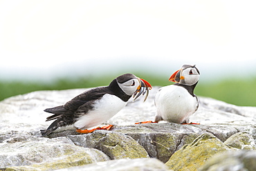
<svg viewBox="0 0 256 171">
<path fill-rule="evenodd" d="M 216 154 L 199 168 L 200 171 L 254 171 L 256 170 L 256 151 L 241 150 Z"/>
</svg>

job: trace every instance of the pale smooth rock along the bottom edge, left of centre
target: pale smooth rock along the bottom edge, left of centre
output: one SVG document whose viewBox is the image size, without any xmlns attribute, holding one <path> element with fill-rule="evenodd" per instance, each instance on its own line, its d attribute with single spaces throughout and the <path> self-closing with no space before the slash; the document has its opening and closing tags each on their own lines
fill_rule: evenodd
<svg viewBox="0 0 256 171">
<path fill-rule="evenodd" d="M 68 170 L 80 171 L 167 171 L 167 167 L 158 159 L 119 159 L 112 161 L 104 161 L 99 163 L 92 163 L 84 166 L 77 166 L 68 168 Z M 58 170 L 66 171 L 66 169 Z M 171 171 L 171 170 L 169 170 Z"/>
</svg>

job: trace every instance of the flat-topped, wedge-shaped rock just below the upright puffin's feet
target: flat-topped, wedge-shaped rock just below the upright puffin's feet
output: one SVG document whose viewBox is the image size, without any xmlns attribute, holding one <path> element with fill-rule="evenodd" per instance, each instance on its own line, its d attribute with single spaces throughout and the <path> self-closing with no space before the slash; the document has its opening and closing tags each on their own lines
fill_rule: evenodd
<svg viewBox="0 0 256 171">
<path fill-rule="evenodd" d="M 202 132 L 199 128 L 176 123 L 127 125 L 116 127 L 113 130 L 128 134 L 138 141 L 140 145 L 143 145 L 149 157 L 157 158 L 164 163 L 170 159 L 172 154 L 179 148 L 179 145 L 183 144 L 185 141 L 187 142 L 187 139 L 183 139 L 185 134 Z M 177 132 L 177 130 L 179 132 Z M 197 134 L 197 136 L 198 135 L 199 134 Z M 196 139 L 197 136 L 195 136 L 194 139 Z M 192 139 L 192 141 L 194 139 Z"/>
</svg>

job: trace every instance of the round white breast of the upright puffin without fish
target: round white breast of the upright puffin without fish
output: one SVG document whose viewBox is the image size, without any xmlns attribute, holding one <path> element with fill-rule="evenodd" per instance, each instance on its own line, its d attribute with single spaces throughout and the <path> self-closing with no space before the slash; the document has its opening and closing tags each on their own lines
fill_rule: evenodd
<svg viewBox="0 0 256 171">
<path fill-rule="evenodd" d="M 196 97 L 181 86 L 165 86 L 156 94 L 156 115 L 165 121 L 183 123 L 198 106 Z"/>
</svg>

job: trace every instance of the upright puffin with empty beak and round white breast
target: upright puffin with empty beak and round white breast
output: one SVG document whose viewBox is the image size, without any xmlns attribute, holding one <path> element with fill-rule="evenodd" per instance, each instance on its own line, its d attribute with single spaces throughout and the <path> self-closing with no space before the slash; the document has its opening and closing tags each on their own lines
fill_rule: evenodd
<svg viewBox="0 0 256 171">
<path fill-rule="evenodd" d="M 199 101 L 194 94 L 194 88 L 199 81 L 200 72 L 196 66 L 183 65 L 172 74 L 169 81 L 174 84 L 162 87 L 155 97 L 156 117 L 154 121 L 139 123 L 158 123 L 167 121 L 181 124 L 190 123 L 189 117 L 199 108 Z M 138 124 L 138 123 L 136 123 Z"/>
</svg>

